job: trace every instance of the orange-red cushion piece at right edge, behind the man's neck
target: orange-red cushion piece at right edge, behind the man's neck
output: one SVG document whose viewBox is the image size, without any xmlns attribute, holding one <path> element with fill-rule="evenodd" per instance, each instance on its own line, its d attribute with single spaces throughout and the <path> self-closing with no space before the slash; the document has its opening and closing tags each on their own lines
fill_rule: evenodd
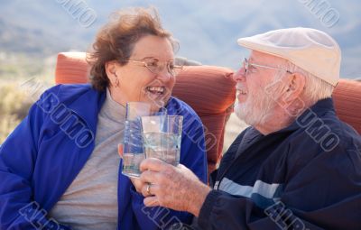
<svg viewBox="0 0 361 230">
<path fill-rule="evenodd" d="M 340 79 L 332 98 L 339 119 L 361 133 L 361 82 Z"/>
</svg>

